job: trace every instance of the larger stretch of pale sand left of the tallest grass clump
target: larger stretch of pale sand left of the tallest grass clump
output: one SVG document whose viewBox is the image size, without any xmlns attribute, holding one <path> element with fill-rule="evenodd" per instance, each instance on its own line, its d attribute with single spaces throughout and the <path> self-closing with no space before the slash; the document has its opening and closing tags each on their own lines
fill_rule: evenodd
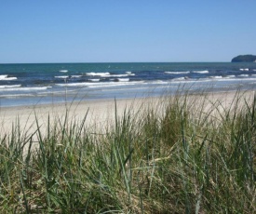
<svg viewBox="0 0 256 214">
<path fill-rule="evenodd" d="M 152 99 L 128 99 L 128 100 L 90 100 L 74 103 L 45 104 L 36 106 L 5 107 L 0 110 L 0 133 L 7 134 L 12 127 L 19 124 L 22 131 L 34 132 L 37 127 L 45 131 L 48 120 L 50 124 L 64 123 L 68 116 L 69 121 L 77 124 L 86 116 L 87 127 L 105 127 L 115 119 L 115 105 L 117 114 L 122 114 L 129 107 L 139 109 L 142 103 Z M 38 125 L 36 124 L 38 122 Z"/>
</svg>

